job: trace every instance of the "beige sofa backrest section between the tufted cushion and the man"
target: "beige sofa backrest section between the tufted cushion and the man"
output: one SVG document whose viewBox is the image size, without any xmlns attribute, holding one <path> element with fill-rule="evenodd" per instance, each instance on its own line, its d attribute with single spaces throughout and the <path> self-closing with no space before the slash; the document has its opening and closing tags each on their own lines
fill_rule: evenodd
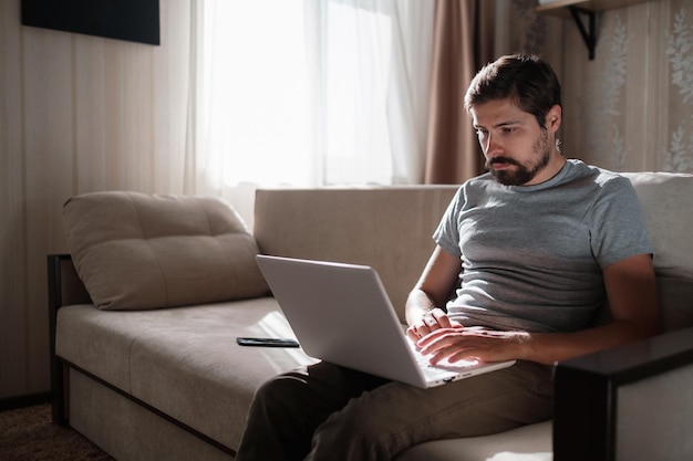
<svg viewBox="0 0 693 461">
<path fill-rule="evenodd" d="M 266 254 L 373 266 L 400 318 L 456 186 L 258 189 L 254 234 Z"/>
</svg>

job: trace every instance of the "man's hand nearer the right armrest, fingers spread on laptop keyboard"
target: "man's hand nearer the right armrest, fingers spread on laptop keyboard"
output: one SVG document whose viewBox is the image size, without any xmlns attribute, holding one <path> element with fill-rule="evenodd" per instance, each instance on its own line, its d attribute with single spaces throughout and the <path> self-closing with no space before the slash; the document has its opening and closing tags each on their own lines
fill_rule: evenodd
<svg viewBox="0 0 693 461">
<path fill-rule="evenodd" d="M 443 327 L 424 336 L 416 345 L 422 354 L 431 356 L 433 365 L 442 362 L 454 364 L 461 359 L 504 362 L 523 358 L 524 345 L 530 339 L 530 334 L 526 332 Z"/>
</svg>

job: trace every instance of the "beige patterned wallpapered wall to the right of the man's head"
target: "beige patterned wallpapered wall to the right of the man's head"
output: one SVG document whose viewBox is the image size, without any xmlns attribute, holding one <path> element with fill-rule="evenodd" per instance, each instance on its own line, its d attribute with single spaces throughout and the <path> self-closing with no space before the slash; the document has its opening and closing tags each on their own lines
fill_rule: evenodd
<svg viewBox="0 0 693 461">
<path fill-rule="evenodd" d="M 508 48 L 545 55 L 563 86 L 568 157 L 616 171 L 693 172 L 693 0 L 659 0 L 597 17 L 596 59 L 572 19 L 513 0 Z M 562 23 L 562 33 L 559 25 Z"/>
</svg>

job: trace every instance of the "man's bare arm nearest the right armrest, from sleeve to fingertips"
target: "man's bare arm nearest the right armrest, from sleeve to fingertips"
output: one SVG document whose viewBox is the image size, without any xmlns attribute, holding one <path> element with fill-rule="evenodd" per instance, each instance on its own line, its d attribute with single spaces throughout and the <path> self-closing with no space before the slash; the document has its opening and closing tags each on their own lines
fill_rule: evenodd
<svg viewBox="0 0 693 461">
<path fill-rule="evenodd" d="M 418 342 L 433 363 L 477 357 L 554 364 L 647 338 L 658 332 L 652 258 L 639 254 L 603 270 L 612 322 L 576 333 L 488 332 L 441 328 Z M 411 335 L 410 335 L 411 336 Z"/>
</svg>

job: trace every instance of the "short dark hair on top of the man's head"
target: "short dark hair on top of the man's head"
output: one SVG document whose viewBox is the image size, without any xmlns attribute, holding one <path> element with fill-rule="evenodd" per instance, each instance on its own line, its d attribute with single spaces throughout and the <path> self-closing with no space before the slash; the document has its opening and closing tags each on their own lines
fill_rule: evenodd
<svg viewBox="0 0 693 461">
<path fill-rule="evenodd" d="M 465 94 L 465 109 L 477 104 L 510 98 L 532 114 L 546 128 L 546 114 L 560 101 L 560 83 L 551 66 L 536 55 L 511 54 L 486 64 L 472 80 Z"/>
</svg>

